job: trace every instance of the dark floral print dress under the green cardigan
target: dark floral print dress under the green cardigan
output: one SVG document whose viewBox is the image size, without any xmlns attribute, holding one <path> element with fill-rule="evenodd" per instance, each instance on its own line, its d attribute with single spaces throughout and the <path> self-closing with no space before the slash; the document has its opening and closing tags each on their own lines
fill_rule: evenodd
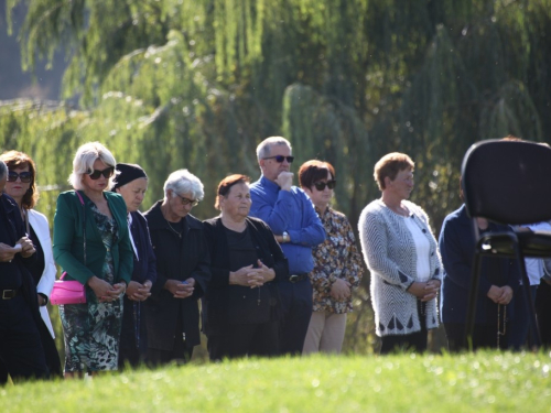
<svg viewBox="0 0 551 413">
<path fill-rule="evenodd" d="M 114 284 L 111 246 L 118 237 L 117 221 L 101 214 L 94 204 L 91 210 L 106 248 L 104 271 L 97 276 Z M 60 306 L 65 332 L 65 371 L 117 370 L 122 295 L 111 303 L 100 303 L 94 291 L 86 286 L 86 304 Z"/>
</svg>

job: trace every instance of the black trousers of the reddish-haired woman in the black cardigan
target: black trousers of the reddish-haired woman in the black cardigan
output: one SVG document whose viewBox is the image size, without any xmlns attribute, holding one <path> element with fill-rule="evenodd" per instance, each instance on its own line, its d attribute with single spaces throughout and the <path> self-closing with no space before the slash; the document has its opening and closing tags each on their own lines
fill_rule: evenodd
<svg viewBox="0 0 551 413">
<path fill-rule="evenodd" d="M 278 355 L 277 322 L 262 324 L 228 324 L 208 336 L 210 360 L 246 356 L 270 357 Z"/>
</svg>

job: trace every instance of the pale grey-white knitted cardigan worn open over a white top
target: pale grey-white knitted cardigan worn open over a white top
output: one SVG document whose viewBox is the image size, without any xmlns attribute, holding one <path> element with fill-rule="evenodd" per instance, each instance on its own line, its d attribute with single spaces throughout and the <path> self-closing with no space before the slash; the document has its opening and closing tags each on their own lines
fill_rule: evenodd
<svg viewBox="0 0 551 413">
<path fill-rule="evenodd" d="M 430 243 L 432 279 L 442 282 L 442 260 L 429 217 L 418 205 L 402 203 L 412 213 Z M 376 334 L 406 335 L 421 330 L 418 300 L 406 290 L 417 281 L 415 243 L 404 218 L 390 210 L 380 199 L 367 205 L 358 221 L 361 251 L 371 272 L 371 302 Z M 426 328 L 439 326 L 436 300 L 426 303 Z"/>
</svg>

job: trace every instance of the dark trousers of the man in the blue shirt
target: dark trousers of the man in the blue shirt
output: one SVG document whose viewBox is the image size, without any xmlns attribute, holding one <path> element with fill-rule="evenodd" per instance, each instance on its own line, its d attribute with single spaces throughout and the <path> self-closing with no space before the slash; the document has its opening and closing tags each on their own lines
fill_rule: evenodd
<svg viewBox="0 0 551 413">
<path fill-rule="evenodd" d="M 279 328 L 280 355 L 301 355 L 312 317 L 312 284 L 306 276 L 298 283 L 279 284 L 283 318 Z"/>
</svg>

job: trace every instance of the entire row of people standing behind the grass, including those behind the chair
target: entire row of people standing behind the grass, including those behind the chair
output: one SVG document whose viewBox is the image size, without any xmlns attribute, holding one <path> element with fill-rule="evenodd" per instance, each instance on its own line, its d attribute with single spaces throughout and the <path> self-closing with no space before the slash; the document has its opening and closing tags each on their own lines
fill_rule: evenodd
<svg viewBox="0 0 551 413">
<path fill-rule="evenodd" d="M 197 176 L 173 172 L 163 198 L 141 214 L 145 171 L 117 164 L 98 142 L 86 143 L 73 161 L 74 189 L 57 198 L 52 243 L 46 218 L 33 209 L 34 162 L 17 151 L 2 154 L 0 333 L 10 339 L 0 340 L 0 380 L 8 373 L 62 376 L 45 307 L 55 262 L 86 292 L 86 303 L 60 306 L 66 378 L 186 362 L 201 343 L 199 318 L 212 360 L 339 352 L 364 270 L 348 219 L 331 207 L 335 169 L 307 161 L 300 187 L 293 185 L 294 156 L 281 137 L 263 140 L 257 159 L 260 178 L 222 180 L 220 215 L 201 221 L 191 215 L 204 198 Z M 450 349 L 461 350 L 474 256 L 471 220 L 464 206 L 452 213 L 437 242 L 424 210 L 408 200 L 413 172 L 403 153 L 377 162 L 381 197 L 358 224 L 380 352 L 424 351 L 441 318 Z M 477 224 L 482 231 L 503 229 Z M 520 319 L 511 304 L 516 267 L 487 260 L 480 284 L 474 347 L 496 347 L 506 317 Z M 516 337 L 516 347 L 523 338 Z"/>
</svg>

